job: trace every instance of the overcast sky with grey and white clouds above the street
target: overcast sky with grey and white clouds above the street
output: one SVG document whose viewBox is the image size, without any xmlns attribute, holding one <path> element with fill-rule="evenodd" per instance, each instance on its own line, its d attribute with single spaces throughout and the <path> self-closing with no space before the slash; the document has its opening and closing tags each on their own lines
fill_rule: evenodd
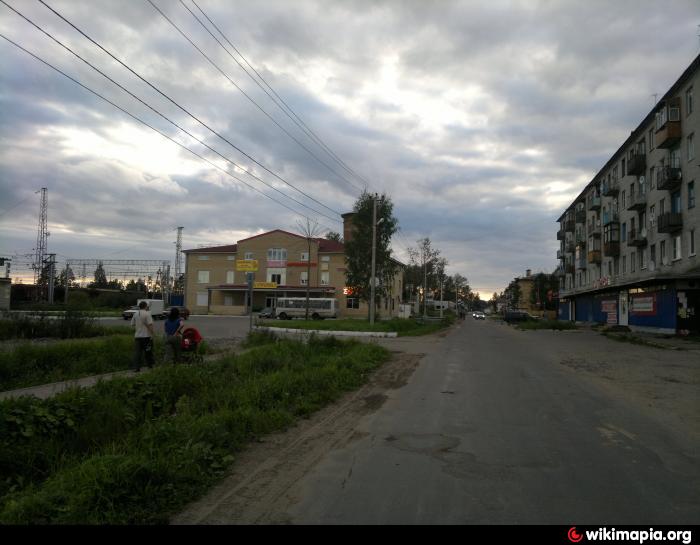
<svg viewBox="0 0 700 545">
<path fill-rule="evenodd" d="M 367 187 L 399 259 L 430 237 L 483 298 L 554 269 L 555 220 L 700 50 L 697 0 L 195 0 L 331 156 L 192 0 L 152 1 L 216 67 L 149 0 L 45 1 L 192 116 L 38 1 L 3 0 L 0 33 L 210 162 L 0 39 L 0 255 L 32 253 L 41 187 L 59 261 L 173 262 L 178 225 L 185 248 L 342 232 Z"/>
</svg>

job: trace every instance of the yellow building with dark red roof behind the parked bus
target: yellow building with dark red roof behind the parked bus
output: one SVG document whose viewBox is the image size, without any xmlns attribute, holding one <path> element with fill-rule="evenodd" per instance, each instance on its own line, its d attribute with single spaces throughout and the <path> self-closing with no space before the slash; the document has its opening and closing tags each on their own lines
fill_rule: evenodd
<svg viewBox="0 0 700 545">
<path fill-rule="evenodd" d="M 351 236 L 347 228 L 350 218 L 344 219 L 347 238 Z M 253 309 L 274 308 L 278 297 L 305 297 L 308 285 L 311 297 L 335 298 L 343 317 L 368 314 L 366 303 L 353 297 L 346 286 L 345 249 L 340 242 L 312 239 L 309 255 L 305 237 L 275 229 L 239 240 L 237 244 L 183 253 L 186 255 L 185 305 L 193 314 L 246 314 L 248 286 L 246 273 L 236 270 L 239 260 L 256 260 L 255 282 L 270 284 L 254 289 Z M 389 296 L 380 301 L 379 315 L 398 316 L 402 272 L 394 277 Z"/>
</svg>

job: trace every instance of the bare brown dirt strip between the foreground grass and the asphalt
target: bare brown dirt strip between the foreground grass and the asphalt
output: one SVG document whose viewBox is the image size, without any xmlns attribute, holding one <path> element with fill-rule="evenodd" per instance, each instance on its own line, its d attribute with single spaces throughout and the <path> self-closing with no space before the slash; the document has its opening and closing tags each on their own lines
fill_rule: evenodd
<svg viewBox="0 0 700 545">
<path fill-rule="evenodd" d="M 358 420 L 379 409 L 388 393 L 404 386 L 422 354 L 393 352 L 359 390 L 284 433 L 266 436 L 239 455 L 233 473 L 172 524 L 284 524 L 288 491 L 329 451 L 363 435 Z"/>
</svg>

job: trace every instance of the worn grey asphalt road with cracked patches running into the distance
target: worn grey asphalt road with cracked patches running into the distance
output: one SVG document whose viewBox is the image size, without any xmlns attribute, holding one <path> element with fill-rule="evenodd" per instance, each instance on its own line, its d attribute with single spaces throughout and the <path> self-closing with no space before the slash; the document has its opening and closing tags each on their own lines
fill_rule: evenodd
<svg viewBox="0 0 700 545">
<path fill-rule="evenodd" d="M 467 320 L 294 487 L 310 524 L 692 524 L 697 439 Z M 695 436 L 697 437 L 697 436 Z"/>
</svg>

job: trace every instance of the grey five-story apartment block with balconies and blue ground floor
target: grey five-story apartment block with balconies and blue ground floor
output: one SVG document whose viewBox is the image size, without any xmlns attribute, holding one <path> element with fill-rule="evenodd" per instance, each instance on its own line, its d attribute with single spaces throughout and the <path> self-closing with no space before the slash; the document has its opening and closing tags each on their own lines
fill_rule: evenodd
<svg viewBox="0 0 700 545">
<path fill-rule="evenodd" d="M 700 329 L 700 56 L 557 220 L 560 319 Z"/>
</svg>

